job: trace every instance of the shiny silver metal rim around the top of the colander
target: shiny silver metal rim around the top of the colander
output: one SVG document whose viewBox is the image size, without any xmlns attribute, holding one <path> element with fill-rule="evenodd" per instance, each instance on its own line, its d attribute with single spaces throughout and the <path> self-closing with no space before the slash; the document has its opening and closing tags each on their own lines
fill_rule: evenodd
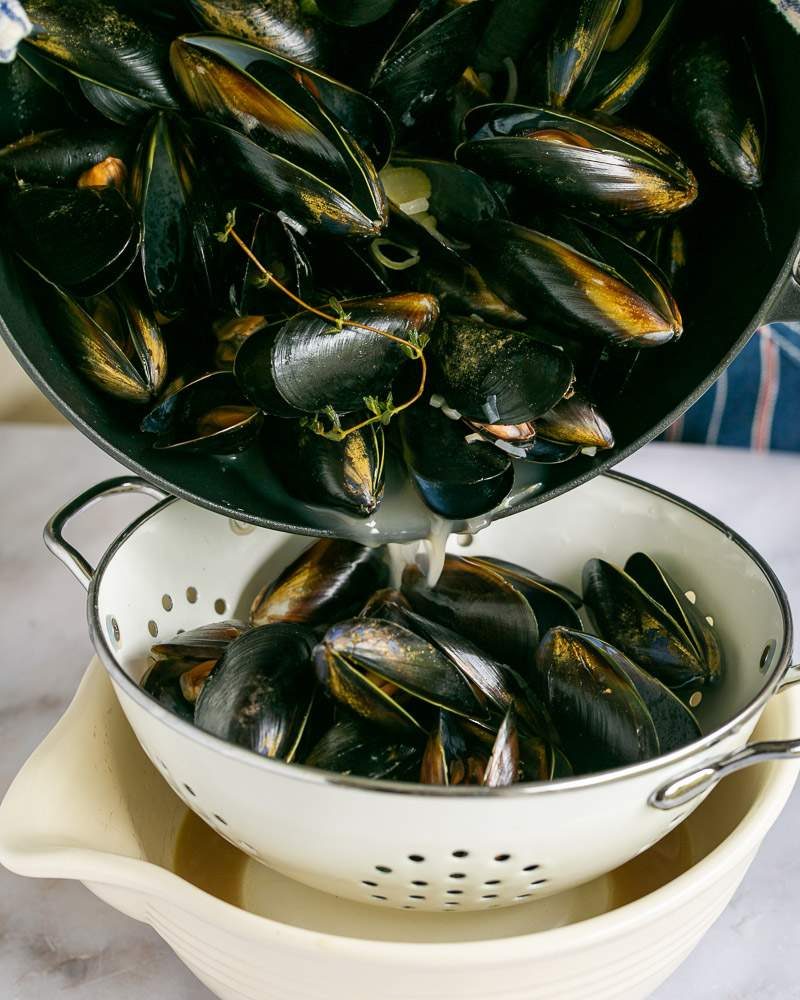
<svg viewBox="0 0 800 1000">
<path fill-rule="evenodd" d="M 271 760 L 261 757 L 259 754 L 244 747 L 236 746 L 203 732 L 192 723 L 178 718 L 172 712 L 158 704 L 146 691 L 143 690 L 127 673 L 122 665 L 117 661 L 114 651 L 108 642 L 105 630 L 100 622 L 99 592 L 102 586 L 103 577 L 116 553 L 143 525 L 156 518 L 163 510 L 175 503 L 186 503 L 193 506 L 189 501 L 181 500 L 177 497 L 168 497 L 154 507 L 145 511 L 135 518 L 127 528 L 125 528 L 117 538 L 109 545 L 92 576 L 87 595 L 87 618 L 89 622 L 89 632 L 94 648 L 108 671 L 115 689 L 130 698 L 138 708 L 142 709 L 156 721 L 166 724 L 176 735 L 197 743 L 205 749 L 214 753 L 220 753 L 239 764 L 260 769 L 275 777 L 306 781 L 313 784 L 334 785 L 359 789 L 361 791 L 376 792 L 394 795 L 421 795 L 426 798 L 440 798 L 443 801 L 453 798 L 521 798 L 527 796 L 554 795 L 559 792 L 574 791 L 579 788 L 595 787 L 613 782 L 624 781 L 629 778 L 655 773 L 658 771 L 671 769 L 680 764 L 685 764 L 686 769 L 692 767 L 692 760 L 699 755 L 712 750 L 716 745 L 728 738 L 732 733 L 738 732 L 751 719 L 756 720 L 763 711 L 765 705 L 775 693 L 782 678 L 789 669 L 789 661 L 793 645 L 792 613 L 789 607 L 786 593 L 764 558 L 740 535 L 727 527 L 722 521 L 711 514 L 697 507 L 695 504 L 677 497 L 667 490 L 643 482 L 633 476 L 628 476 L 620 472 L 604 473 L 603 478 L 612 480 L 617 484 L 641 491 L 645 494 L 658 497 L 661 500 L 674 506 L 678 506 L 689 514 L 703 521 L 709 528 L 723 534 L 725 538 L 738 546 L 755 563 L 763 574 L 770 587 L 772 596 L 778 604 L 783 627 L 783 640 L 780 651 L 773 655 L 769 670 L 764 675 L 761 686 L 756 696 L 744 706 L 736 715 L 729 719 L 723 726 L 719 726 L 712 732 L 687 744 L 684 747 L 674 750 L 669 754 L 662 754 L 650 760 L 631 764 L 626 767 L 612 768 L 606 771 L 582 775 L 578 777 L 559 778 L 548 782 L 520 782 L 504 788 L 483 788 L 479 786 L 438 786 L 419 785 L 411 782 L 393 782 L 384 779 L 363 778 L 354 775 L 337 774 L 332 771 L 322 771 L 318 768 L 308 767 L 304 764 L 287 764 L 281 760 Z M 590 486 L 588 488 L 591 488 Z M 272 530 L 272 529 L 266 529 Z M 707 762 L 706 762 L 707 763 Z M 656 779 L 654 779 L 656 780 Z"/>
</svg>

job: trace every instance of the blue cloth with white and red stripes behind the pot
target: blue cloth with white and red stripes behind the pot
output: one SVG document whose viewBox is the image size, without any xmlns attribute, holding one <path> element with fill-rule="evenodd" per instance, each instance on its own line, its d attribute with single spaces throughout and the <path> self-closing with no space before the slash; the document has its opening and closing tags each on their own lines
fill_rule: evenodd
<svg viewBox="0 0 800 1000">
<path fill-rule="evenodd" d="M 666 441 L 800 451 L 800 324 L 758 330 L 719 380 L 663 435 Z"/>
</svg>

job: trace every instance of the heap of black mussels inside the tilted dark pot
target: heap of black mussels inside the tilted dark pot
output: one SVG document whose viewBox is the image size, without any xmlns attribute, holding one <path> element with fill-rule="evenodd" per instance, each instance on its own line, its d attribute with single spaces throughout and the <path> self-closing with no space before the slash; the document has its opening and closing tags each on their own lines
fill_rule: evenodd
<svg viewBox="0 0 800 1000">
<path fill-rule="evenodd" d="M 729 5 L 25 6 L 2 229 L 54 342 L 175 461 L 257 450 L 356 517 L 390 459 L 456 520 L 612 448 L 603 373 L 680 337 L 698 188 L 761 184 Z"/>
</svg>

